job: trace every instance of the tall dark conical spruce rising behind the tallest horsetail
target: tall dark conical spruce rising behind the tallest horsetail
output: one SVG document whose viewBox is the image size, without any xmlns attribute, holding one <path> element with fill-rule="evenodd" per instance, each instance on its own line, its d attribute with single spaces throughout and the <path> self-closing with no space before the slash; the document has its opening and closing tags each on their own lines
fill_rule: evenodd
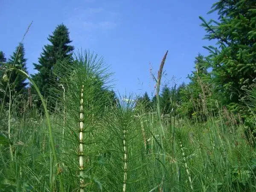
<svg viewBox="0 0 256 192">
<path fill-rule="evenodd" d="M 64 24 L 58 25 L 52 35 L 47 38 L 51 44 L 45 45 L 41 57 L 38 58 L 38 64 L 34 63 L 35 70 L 38 73 L 32 78 L 40 87 L 40 91 L 45 99 L 48 99 L 48 104 L 53 106 L 50 96 L 58 89 L 58 75 L 54 73 L 55 68 L 61 68 L 61 61 L 67 61 L 72 64 L 73 46 L 69 45 L 72 41 L 69 37 L 69 32 Z M 61 70 L 57 70 L 61 71 Z"/>
</svg>

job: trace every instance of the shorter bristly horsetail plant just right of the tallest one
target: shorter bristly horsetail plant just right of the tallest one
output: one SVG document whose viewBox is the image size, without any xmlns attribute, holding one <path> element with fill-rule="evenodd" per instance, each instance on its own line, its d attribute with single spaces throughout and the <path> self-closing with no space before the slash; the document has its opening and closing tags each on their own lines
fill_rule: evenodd
<svg viewBox="0 0 256 192">
<path fill-rule="evenodd" d="M 111 148 L 111 158 L 105 163 L 106 191 L 133 191 L 138 189 L 139 180 L 143 182 L 146 176 L 140 171 L 143 167 L 141 151 L 145 154 L 140 118 L 138 118 L 135 102 L 130 95 L 127 99 L 118 99 L 117 106 L 110 109 L 110 117 L 103 121 L 105 132 L 104 145 Z M 104 146 L 102 146 L 104 147 Z"/>
</svg>

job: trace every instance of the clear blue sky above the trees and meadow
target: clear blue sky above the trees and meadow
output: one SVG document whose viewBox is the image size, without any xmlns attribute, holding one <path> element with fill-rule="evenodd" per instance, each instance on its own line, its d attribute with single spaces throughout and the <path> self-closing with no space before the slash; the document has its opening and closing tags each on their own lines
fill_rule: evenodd
<svg viewBox="0 0 256 192">
<path fill-rule="evenodd" d="M 115 91 L 121 94 L 154 91 L 150 69 L 157 70 L 169 50 L 162 84 L 173 80 L 188 83 L 198 52 L 212 42 L 203 40 L 205 31 L 199 15 L 206 20 L 216 0 L 0 0 L 0 50 L 12 54 L 33 21 L 23 43 L 29 73 L 32 63 L 58 24 L 70 31 L 72 45 L 90 49 L 104 57 L 114 72 Z"/>
</svg>

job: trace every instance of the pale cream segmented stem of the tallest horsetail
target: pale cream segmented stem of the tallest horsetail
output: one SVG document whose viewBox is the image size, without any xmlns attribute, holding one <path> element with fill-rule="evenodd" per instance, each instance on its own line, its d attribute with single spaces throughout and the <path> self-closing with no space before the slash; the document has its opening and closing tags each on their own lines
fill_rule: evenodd
<svg viewBox="0 0 256 192">
<path fill-rule="evenodd" d="M 84 192 L 84 84 L 81 88 L 80 100 L 80 132 L 79 132 L 79 176 L 80 176 L 80 192 Z"/>
</svg>

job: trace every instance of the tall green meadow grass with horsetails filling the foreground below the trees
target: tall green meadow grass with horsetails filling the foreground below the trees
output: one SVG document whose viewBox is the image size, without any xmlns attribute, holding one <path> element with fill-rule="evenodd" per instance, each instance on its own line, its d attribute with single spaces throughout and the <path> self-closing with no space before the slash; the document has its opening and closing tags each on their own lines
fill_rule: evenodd
<svg viewBox="0 0 256 192">
<path fill-rule="evenodd" d="M 232 113 L 191 122 L 175 115 L 174 95 L 169 116 L 132 95 L 108 105 L 102 58 L 85 52 L 62 66 L 48 119 L 3 104 L 0 191 L 256 191 L 254 137 Z"/>
</svg>

